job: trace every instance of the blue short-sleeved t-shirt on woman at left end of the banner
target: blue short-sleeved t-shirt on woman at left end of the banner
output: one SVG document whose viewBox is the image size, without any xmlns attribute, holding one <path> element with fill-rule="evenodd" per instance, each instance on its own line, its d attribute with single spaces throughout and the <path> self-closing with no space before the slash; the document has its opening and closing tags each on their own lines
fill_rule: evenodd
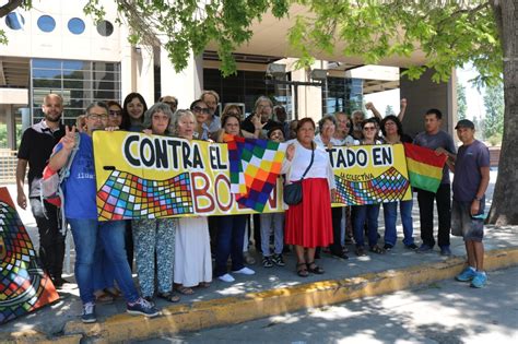
<svg viewBox="0 0 518 344">
<path fill-rule="evenodd" d="M 97 218 L 95 197 L 94 152 L 92 138 L 80 133 L 78 153 L 70 166 L 70 176 L 64 180 L 64 216 L 67 218 Z M 55 154 L 62 149 L 58 143 Z"/>
</svg>

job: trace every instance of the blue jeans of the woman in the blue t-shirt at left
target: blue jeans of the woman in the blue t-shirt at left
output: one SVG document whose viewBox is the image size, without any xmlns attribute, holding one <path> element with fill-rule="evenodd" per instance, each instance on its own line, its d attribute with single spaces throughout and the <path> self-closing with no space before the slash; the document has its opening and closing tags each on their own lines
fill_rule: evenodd
<svg viewBox="0 0 518 344">
<path fill-rule="evenodd" d="M 75 280 L 83 304 L 94 303 L 94 269 L 101 258 L 101 248 L 113 265 L 117 281 L 128 303 L 134 303 L 139 293 L 134 287 L 125 249 L 125 222 L 98 222 L 93 218 L 69 218 L 75 244 Z"/>
</svg>

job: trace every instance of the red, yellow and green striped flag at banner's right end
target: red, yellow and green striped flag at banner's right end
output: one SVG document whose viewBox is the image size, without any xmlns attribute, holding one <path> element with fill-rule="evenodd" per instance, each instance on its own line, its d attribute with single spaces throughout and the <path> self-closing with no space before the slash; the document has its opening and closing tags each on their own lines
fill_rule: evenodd
<svg viewBox="0 0 518 344">
<path fill-rule="evenodd" d="M 443 167 L 448 157 L 444 154 L 436 155 L 433 150 L 415 144 L 403 143 L 403 145 L 410 185 L 413 188 L 437 192 L 443 179 Z"/>
</svg>

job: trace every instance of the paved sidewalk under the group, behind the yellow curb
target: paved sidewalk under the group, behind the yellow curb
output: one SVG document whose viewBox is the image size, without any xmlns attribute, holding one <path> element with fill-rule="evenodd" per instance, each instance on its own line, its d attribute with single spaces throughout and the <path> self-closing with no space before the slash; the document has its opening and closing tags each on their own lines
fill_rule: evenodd
<svg viewBox="0 0 518 344">
<path fill-rule="evenodd" d="M 491 202 L 495 177 L 496 173 L 492 171 L 492 183 L 487 197 L 488 202 Z M 9 186 L 9 189 L 10 191 L 15 190 L 14 186 Z M 11 194 L 14 199 L 15 193 L 11 192 Z M 35 229 L 34 218 L 30 211 L 20 211 L 20 214 L 31 237 L 33 238 L 33 241 L 35 242 L 35 246 L 37 246 L 37 232 Z M 382 234 L 381 216 L 379 228 Z M 499 228 L 488 226 L 484 241 L 486 250 L 518 248 L 517 234 L 518 226 Z M 399 239 L 401 239 L 402 228 L 400 224 L 398 225 L 398 235 Z M 419 209 L 416 202 L 414 203 L 414 237 L 419 244 Z M 452 237 L 451 250 L 454 256 L 463 256 L 464 247 L 462 240 Z M 259 262 L 259 254 L 256 254 L 255 252 L 252 253 Z M 227 297 L 245 297 L 254 292 L 290 288 L 319 281 L 343 280 L 369 273 L 398 271 L 400 269 L 420 264 L 434 264 L 447 261 L 447 258 L 438 254 L 437 249 L 432 253 L 417 254 L 413 251 L 407 250 L 399 241 L 391 252 L 384 256 L 372 253 L 367 257 L 356 258 L 354 254 L 351 254 L 349 260 L 342 260 L 332 258 L 328 254 L 322 254 L 322 259 L 318 263 L 326 269 L 326 274 L 310 275 L 308 278 L 301 278 L 294 272 L 294 254 L 286 254 L 285 258 L 285 268 L 264 269 L 256 264 L 255 266 L 250 266 L 256 270 L 256 275 L 251 277 L 236 276 L 235 283 L 232 284 L 214 281 L 210 288 L 196 289 L 196 293 L 191 296 L 181 296 L 180 305 L 193 307 L 193 305 L 196 306 L 198 303 L 201 305 L 203 301 L 217 300 Z M 73 244 L 71 245 L 71 264 L 73 268 Z M 73 275 L 66 276 L 66 278 L 73 282 Z M 81 301 L 79 299 L 79 290 L 75 284 L 67 284 L 61 290 L 59 290 L 59 294 L 61 299 L 54 305 L 2 325 L 0 328 L 0 336 L 2 332 L 12 333 L 28 330 L 35 330 L 49 336 L 62 334 L 67 323 L 78 321 L 79 315 L 81 313 Z M 158 300 L 157 306 L 166 307 L 170 306 L 170 304 L 165 304 L 165 301 Z M 111 305 L 97 307 L 99 322 L 103 323 L 106 320 L 111 319 L 113 316 L 125 312 L 125 309 L 126 306 L 122 300 L 117 300 Z"/>
</svg>

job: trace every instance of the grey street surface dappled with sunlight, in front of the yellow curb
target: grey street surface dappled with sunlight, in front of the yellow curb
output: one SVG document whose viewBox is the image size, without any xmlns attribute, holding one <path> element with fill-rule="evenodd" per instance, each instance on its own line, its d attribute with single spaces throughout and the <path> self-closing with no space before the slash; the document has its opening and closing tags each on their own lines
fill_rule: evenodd
<svg viewBox="0 0 518 344">
<path fill-rule="evenodd" d="M 518 268 L 486 289 L 445 280 L 393 294 L 139 343 L 517 343 Z M 488 292 L 490 290 L 490 292 Z"/>
</svg>

